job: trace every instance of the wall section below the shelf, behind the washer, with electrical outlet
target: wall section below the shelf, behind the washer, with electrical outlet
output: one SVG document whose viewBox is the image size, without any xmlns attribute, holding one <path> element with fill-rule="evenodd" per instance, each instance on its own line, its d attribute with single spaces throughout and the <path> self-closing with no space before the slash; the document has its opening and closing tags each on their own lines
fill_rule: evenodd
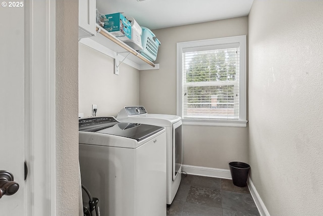
<svg viewBox="0 0 323 216">
<path fill-rule="evenodd" d="M 113 73 L 113 59 L 79 44 L 79 113 L 117 116 L 124 106 L 139 105 L 139 71 L 125 63 Z"/>
</svg>

